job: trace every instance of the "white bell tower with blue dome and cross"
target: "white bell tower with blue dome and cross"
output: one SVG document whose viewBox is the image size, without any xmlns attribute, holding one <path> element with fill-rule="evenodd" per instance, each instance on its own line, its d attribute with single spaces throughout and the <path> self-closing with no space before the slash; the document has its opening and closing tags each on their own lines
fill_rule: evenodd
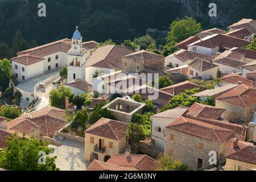
<svg viewBox="0 0 256 182">
<path fill-rule="evenodd" d="M 68 51 L 68 83 L 78 78 L 85 80 L 86 49 L 82 48 L 82 37 L 76 26 L 73 34 L 72 46 Z"/>
</svg>

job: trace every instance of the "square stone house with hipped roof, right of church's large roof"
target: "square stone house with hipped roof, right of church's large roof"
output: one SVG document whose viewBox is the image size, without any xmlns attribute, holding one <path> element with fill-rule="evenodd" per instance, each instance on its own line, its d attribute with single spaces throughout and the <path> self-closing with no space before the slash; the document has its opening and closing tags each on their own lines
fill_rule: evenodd
<svg viewBox="0 0 256 182">
<path fill-rule="evenodd" d="M 140 73 L 143 69 L 164 72 L 164 56 L 141 50 L 122 57 L 123 73 Z"/>
</svg>

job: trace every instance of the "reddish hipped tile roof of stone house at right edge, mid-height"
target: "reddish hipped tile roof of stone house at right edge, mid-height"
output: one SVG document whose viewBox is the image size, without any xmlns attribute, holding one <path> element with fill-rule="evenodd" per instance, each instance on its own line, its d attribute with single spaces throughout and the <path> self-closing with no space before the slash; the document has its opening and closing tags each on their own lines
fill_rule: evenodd
<svg viewBox="0 0 256 182">
<path fill-rule="evenodd" d="M 216 100 L 242 107 L 256 105 L 256 88 L 242 84 L 217 97 Z"/>
</svg>

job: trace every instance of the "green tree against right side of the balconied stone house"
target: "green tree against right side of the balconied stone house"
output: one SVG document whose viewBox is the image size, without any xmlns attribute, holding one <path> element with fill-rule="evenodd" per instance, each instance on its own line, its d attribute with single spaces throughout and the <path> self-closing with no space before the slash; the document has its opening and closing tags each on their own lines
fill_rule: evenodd
<svg viewBox="0 0 256 182">
<path fill-rule="evenodd" d="M 129 123 L 126 136 L 132 150 L 139 143 L 139 141 L 145 139 L 143 130 L 144 128 L 142 125 L 139 125 L 138 123 Z"/>
</svg>

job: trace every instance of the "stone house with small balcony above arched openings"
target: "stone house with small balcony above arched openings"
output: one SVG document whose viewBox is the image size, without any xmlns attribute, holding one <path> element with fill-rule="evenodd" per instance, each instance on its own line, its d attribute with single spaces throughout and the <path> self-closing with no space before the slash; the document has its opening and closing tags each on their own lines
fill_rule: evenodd
<svg viewBox="0 0 256 182">
<path fill-rule="evenodd" d="M 85 160 L 106 162 L 114 154 L 126 151 L 127 123 L 101 118 L 85 130 Z"/>
</svg>

